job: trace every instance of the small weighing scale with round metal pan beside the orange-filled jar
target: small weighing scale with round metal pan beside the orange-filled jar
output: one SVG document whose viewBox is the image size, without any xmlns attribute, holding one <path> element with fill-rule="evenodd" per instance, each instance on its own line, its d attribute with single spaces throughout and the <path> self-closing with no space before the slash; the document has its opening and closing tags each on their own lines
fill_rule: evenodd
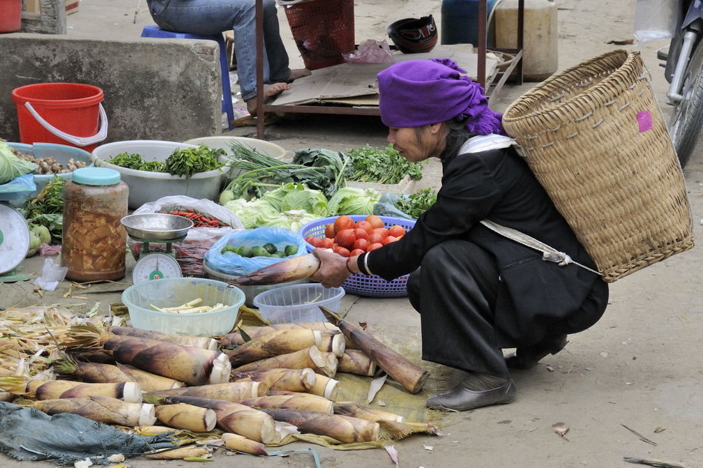
<svg viewBox="0 0 703 468">
<path fill-rule="evenodd" d="M 193 221 L 173 214 L 131 214 L 121 220 L 129 238 L 141 242 L 138 260 L 132 269 L 132 282 L 136 285 L 162 278 L 181 278 L 183 272 L 176 261 L 174 242 L 181 242 L 193 227 Z M 152 244 L 164 244 L 151 247 Z"/>
</svg>

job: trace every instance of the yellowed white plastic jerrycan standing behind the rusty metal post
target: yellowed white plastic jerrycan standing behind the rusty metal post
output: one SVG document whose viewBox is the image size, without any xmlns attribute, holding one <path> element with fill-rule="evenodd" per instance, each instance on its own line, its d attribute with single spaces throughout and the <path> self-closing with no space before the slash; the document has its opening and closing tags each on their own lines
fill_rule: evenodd
<svg viewBox="0 0 703 468">
<path fill-rule="evenodd" d="M 522 73 L 525 81 L 541 82 L 559 65 L 557 4 L 524 0 Z M 517 0 L 496 5 L 496 48 L 517 48 Z"/>
</svg>

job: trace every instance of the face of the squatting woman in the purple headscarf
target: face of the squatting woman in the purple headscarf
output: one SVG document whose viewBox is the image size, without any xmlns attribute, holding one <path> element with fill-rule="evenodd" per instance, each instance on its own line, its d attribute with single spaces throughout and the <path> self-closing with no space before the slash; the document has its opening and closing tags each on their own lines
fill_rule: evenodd
<svg viewBox="0 0 703 468">
<path fill-rule="evenodd" d="M 389 127 L 388 143 L 409 162 L 420 162 L 430 157 L 439 157 L 444 151 L 444 134 L 441 124 L 421 127 Z"/>
</svg>

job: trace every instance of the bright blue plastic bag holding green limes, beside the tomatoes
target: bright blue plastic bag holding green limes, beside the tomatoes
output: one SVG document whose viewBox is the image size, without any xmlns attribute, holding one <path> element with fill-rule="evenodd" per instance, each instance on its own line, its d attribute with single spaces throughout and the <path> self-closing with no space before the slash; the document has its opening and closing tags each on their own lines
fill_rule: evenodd
<svg viewBox="0 0 703 468">
<path fill-rule="evenodd" d="M 284 249 L 287 245 L 296 245 L 298 251 L 295 255 L 279 258 L 269 256 L 254 256 L 247 258 L 235 254 L 234 252 L 222 253 L 222 249 L 226 245 L 240 247 L 248 245 L 250 247 L 263 246 L 271 242 L 278 249 Z M 275 264 L 285 259 L 290 259 L 292 256 L 307 254 L 305 240 L 302 235 L 299 235 L 294 230 L 285 228 L 254 228 L 241 230 L 237 233 L 223 235 L 217 242 L 205 252 L 205 261 L 207 266 L 214 268 L 221 273 L 228 275 L 241 276 L 251 273 L 252 271 L 264 268 Z"/>
</svg>

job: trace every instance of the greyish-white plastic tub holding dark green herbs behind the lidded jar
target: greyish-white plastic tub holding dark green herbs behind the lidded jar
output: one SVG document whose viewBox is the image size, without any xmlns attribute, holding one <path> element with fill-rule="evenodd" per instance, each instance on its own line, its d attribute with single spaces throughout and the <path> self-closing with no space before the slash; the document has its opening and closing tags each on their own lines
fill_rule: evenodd
<svg viewBox="0 0 703 468">
<path fill-rule="evenodd" d="M 129 186 L 129 209 L 137 209 L 148 202 L 155 202 L 167 195 L 187 195 L 195 199 L 218 200 L 227 167 L 199 172 L 191 178 L 172 176 L 162 172 L 138 171 L 115 166 L 107 162 L 123 152 L 138 154 L 142 160 L 165 162 L 177 149 L 197 148 L 198 145 L 177 141 L 131 140 L 106 143 L 95 148 L 91 160 L 97 167 L 109 167 L 122 174 Z"/>
</svg>

